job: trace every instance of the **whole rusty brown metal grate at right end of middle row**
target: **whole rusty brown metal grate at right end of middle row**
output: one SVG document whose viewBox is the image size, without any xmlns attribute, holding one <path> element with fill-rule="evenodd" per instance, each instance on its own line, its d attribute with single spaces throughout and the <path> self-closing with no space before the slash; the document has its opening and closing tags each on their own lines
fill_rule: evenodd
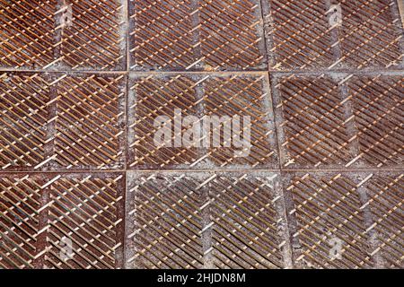
<svg viewBox="0 0 404 287">
<path fill-rule="evenodd" d="M 381 74 L 277 79 L 274 106 L 285 168 L 402 165 L 402 81 Z"/>
</svg>

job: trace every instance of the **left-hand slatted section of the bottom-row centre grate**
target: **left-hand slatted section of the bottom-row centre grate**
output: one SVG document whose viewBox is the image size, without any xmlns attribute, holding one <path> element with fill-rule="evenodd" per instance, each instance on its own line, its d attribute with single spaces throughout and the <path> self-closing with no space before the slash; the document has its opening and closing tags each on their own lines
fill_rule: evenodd
<svg viewBox="0 0 404 287">
<path fill-rule="evenodd" d="M 189 269 L 204 265 L 202 207 L 206 195 L 202 177 L 129 178 L 129 268 Z"/>
</svg>

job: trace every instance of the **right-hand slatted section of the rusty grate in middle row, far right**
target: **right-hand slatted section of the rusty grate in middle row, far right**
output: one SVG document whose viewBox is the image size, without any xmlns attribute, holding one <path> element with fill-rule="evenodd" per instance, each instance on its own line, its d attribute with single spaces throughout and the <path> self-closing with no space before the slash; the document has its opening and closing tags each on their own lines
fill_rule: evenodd
<svg viewBox="0 0 404 287">
<path fill-rule="evenodd" d="M 359 155 L 374 167 L 400 166 L 404 152 L 404 78 L 356 77 L 349 81 Z"/>
</svg>

